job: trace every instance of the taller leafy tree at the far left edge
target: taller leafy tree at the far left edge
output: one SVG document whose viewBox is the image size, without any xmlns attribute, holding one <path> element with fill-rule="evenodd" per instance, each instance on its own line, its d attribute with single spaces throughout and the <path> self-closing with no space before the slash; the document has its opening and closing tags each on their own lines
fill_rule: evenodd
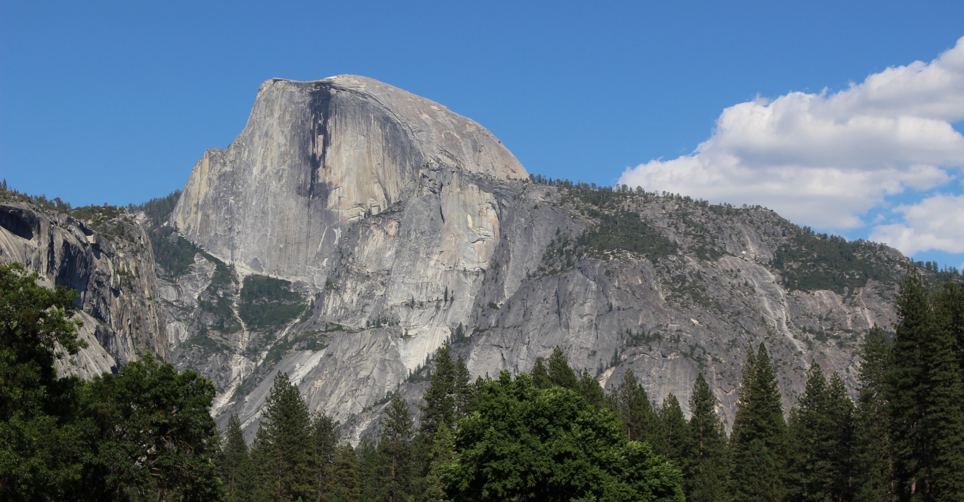
<svg viewBox="0 0 964 502">
<path fill-rule="evenodd" d="M 77 292 L 40 286 L 37 273 L 0 263 L 0 495 L 66 497 L 81 475 L 80 431 L 72 416 L 75 379 L 58 379 L 58 345 L 76 354 Z"/>
</svg>

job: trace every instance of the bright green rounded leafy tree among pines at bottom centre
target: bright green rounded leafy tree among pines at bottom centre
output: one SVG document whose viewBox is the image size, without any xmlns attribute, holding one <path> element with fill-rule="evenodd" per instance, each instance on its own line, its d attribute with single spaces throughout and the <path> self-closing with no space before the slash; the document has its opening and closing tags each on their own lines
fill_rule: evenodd
<svg viewBox="0 0 964 502">
<path fill-rule="evenodd" d="M 455 449 L 441 476 L 457 500 L 683 501 L 680 472 L 628 441 L 612 411 L 569 388 L 537 388 L 525 374 L 503 371 L 483 384 Z"/>
</svg>

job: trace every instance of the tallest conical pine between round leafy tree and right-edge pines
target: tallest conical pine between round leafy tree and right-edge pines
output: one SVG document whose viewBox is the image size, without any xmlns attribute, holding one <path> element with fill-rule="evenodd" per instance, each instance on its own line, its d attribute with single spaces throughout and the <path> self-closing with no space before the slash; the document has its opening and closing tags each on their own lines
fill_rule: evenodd
<svg viewBox="0 0 964 502">
<path fill-rule="evenodd" d="M 730 496 L 736 502 L 783 500 L 787 423 L 763 343 L 756 357 L 747 357 L 743 375 L 730 442 Z"/>
</svg>

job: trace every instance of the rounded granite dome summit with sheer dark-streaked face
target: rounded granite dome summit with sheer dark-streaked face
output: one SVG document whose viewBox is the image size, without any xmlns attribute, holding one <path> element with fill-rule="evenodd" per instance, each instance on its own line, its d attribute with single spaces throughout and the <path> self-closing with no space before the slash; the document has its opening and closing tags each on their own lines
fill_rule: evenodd
<svg viewBox="0 0 964 502">
<path fill-rule="evenodd" d="M 354 75 L 274 79 L 235 142 L 195 166 L 172 221 L 255 273 L 319 285 L 345 228 L 440 169 L 527 175 L 488 130 L 410 92 Z"/>
</svg>

